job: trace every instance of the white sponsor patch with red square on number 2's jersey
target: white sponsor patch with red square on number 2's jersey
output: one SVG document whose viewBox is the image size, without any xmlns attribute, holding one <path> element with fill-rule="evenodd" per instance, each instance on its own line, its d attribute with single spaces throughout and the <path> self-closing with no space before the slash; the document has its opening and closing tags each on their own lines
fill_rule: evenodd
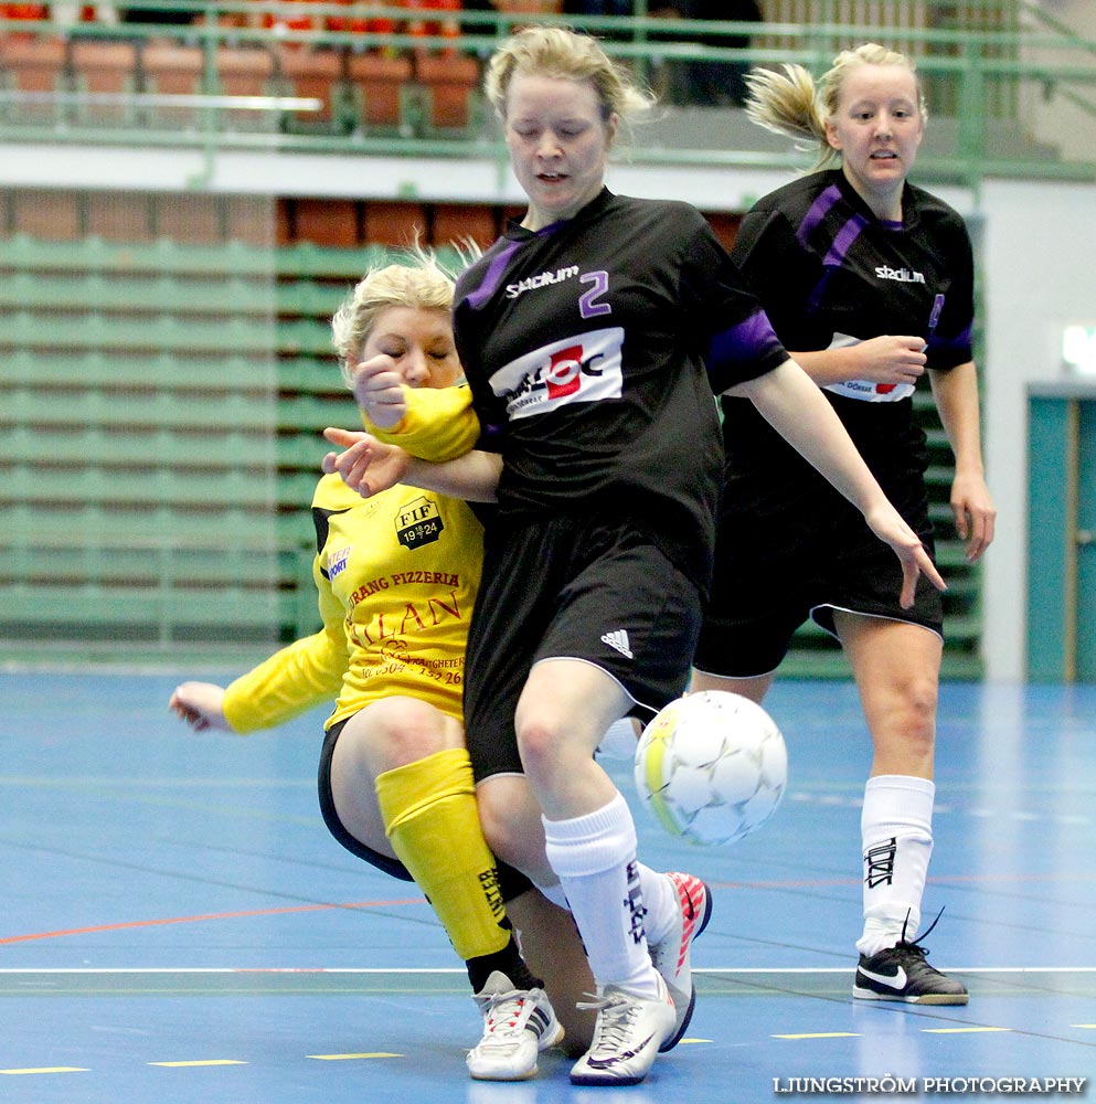
<svg viewBox="0 0 1096 1104">
<path fill-rule="evenodd" d="M 619 399 L 624 329 L 590 330 L 525 353 L 491 376 L 511 420 L 546 414 L 568 403 Z"/>
</svg>

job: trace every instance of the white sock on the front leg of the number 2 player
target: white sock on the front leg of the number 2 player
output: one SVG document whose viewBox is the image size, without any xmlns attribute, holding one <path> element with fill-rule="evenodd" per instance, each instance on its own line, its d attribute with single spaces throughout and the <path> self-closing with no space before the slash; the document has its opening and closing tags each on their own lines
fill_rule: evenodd
<svg viewBox="0 0 1096 1104">
<path fill-rule="evenodd" d="M 658 996 L 647 951 L 636 826 L 618 793 L 608 805 L 568 820 L 544 820 L 547 860 L 560 878 L 598 986 Z"/>
</svg>

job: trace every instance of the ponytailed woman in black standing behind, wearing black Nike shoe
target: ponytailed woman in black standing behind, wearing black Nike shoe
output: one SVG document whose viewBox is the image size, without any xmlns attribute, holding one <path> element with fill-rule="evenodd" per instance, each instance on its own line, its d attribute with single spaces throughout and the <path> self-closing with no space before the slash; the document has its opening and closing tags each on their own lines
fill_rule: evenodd
<svg viewBox="0 0 1096 1104">
<path fill-rule="evenodd" d="M 734 257 L 777 336 L 823 389 L 924 545 L 927 375 L 955 453 L 951 511 L 973 563 L 993 538 L 971 353 L 973 268 L 961 217 L 911 184 L 925 130 L 912 64 L 876 44 L 845 51 L 817 87 L 799 66 L 758 71 L 747 110 L 806 140 L 816 170 L 762 199 Z M 724 401 L 727 449 L 715 585 L 694 690 L 760 701 L 796 628 L 812 617 L 849 658 L 872 739 L 861 818 L 864 924 L 854 994 L 960 1005 L 967 990 L 917 943 L 933 850 L 940 596 L 895 601 L 892 558 L 863 519 L 741 400 Z"/>
</svg>

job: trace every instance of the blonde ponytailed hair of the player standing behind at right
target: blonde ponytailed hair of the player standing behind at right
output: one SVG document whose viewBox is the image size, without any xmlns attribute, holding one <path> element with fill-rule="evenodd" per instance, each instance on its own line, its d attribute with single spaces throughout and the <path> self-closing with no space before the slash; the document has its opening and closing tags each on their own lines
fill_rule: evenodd
<svg viewBox="0 0 1096 1104">
<path fill-rule="evenodd" d="M 746 115 L 766 130 L 795 139 L 797 148 L 813 150 L 812 168 L 823 169 L 841 159 L 840 151 L 826 137 L 826 124 L 837 114 L 849 74 L 862 65 L 898 65 L 907 70 L 917 87 L 922 120 L 928 118 L 928 106 L 914 63 L 905 54 L 875 42 L 842 50 L 817 85 L 802 65 L 783 65 L 783 72 L 754 70 L 746 75 L 749 88 Z"/>
</svg>

